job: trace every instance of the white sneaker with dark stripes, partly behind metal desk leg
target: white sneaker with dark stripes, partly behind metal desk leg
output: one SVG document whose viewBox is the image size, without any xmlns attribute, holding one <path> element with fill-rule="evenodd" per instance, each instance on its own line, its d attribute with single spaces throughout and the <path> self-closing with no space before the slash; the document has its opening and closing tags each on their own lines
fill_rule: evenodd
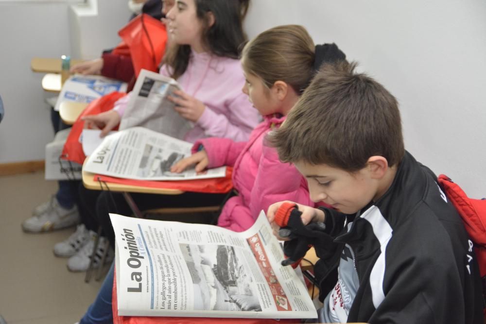
<svg viewBox="0 0 486 324">
<path fill-rule="evenodd" d="M 93 231 L 89 231 L 90 239 L 86 243 L 85 246 L 79 250 L 74 256 L 71 256 L 68 260 L 68 270 L 72 272 L 81 272 L 87 271 L 89 267 L 89 260 L 90 256 L 93 253 L 94 248 L 94 241 L 96 240 L 96 233 Z M 106 238 L 100 237 L 98 241 L 98 248 L 96 249 L 96 253 L 94 254 L 93 259 L 93 268 L 98 268 L 101 263 L 101 259 L 103 254 L 106 252 L 106 257 L 104 263 L 109 263 L 113 261 L 114 253 L 109 248 L 109 242 Z"/>
</svg>

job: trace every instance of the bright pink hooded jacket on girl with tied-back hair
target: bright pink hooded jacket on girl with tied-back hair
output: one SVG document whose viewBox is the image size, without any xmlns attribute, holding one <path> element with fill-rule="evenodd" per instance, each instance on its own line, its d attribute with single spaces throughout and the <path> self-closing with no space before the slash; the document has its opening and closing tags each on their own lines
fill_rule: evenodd
<svg viewBox="0 0 486 324">
<path fill-rule="evenodd" d="M 278 127 L 284 117 L 265 116 L 250 134 L 248 142 L 226 138 L 204 138 L 195 142 L 208 153 L 208 168 L 234 166 L 233 186 L 239 195 L 230 198 L 218 219 L 218 225 L 236 232 L 248 229 L 260 211 L 282 200 L 313 206 L 305 178 L 290 163 L 281 163 L 274 148 L 264 145 L 265 136 Z"/>
</svg>

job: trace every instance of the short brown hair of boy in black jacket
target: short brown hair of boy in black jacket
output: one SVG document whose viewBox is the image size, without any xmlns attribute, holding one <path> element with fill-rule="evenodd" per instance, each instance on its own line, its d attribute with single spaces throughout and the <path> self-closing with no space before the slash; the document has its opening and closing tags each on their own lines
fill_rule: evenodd
<svg viewBox="0 0 486 324">
<path fill-rule="evenodd" d="M 268 137 L 283 162 L 326 164 L 348 172 L 370 156 L 398 165 L 405 153 L 398 103 L 356 63 L 325 64 L 287 120 Z"/>
</svg>

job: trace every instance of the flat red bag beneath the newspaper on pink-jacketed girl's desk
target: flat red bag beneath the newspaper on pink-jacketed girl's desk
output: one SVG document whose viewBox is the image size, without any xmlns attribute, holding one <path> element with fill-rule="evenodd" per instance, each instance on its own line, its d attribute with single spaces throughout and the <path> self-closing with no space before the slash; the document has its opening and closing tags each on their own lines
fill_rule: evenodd
<svg viewBox="0 0 486 324">
<path fill-rule="evenodd" d="M 205 192 L 205 193 L 226 193 L 233 188 L 231 175 L 233 168 L 226 168 L 226 177 L 224 178 L 210 178 L 199 180 L 181 180 L 181 181 L 153 181 L 153 180 L 133 180 L 109 177 L 106 175 L 96 174 L 94 181 L 104 181 L 108 184 L 117 183 L 122 185 L 149 187 L 149 188 L 165 188 L 178 189 L 182 191 Z"/>
</svg>

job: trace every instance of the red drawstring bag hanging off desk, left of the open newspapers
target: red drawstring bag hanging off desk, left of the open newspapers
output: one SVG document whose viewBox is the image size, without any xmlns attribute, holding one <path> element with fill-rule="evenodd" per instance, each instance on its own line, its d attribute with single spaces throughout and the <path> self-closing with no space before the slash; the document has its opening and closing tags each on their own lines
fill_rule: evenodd
<svg viewBox="0 0 486 324">
<path fill-rule="evenodd" d="M 81 135 L 81 132 L 83 132 L 85 122 L 84 120 L 81 120 L 81 117 L 108 111 L 113 108 L 113 105 L 118 99 L 125 95 L 126 93 L 115 91 L 90 102 L 72 125 L 69 136 L 64 144 L 61 157 L 65 160 L 83 164 L 86 155 L 83 152 L 83 146 L 79 142 L 79 136 Z"/>
</svg>

